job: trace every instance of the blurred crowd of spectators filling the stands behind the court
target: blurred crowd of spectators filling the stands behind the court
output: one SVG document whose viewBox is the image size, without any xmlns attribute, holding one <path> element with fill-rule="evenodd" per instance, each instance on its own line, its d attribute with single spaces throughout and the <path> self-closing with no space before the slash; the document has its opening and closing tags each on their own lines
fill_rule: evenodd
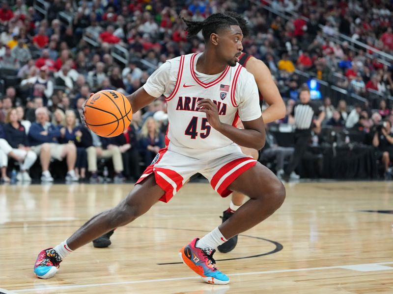
<svg viewBox="0 0 393 294">
<path fill-rule="evenodd" d="M 244 51 L 266 63 L 286 103 L 265 148 L 293 145 L 290 114 L 307 84 L 326 117 L 297 173 L 391 179 L 391 1 L 7 0 L 0 7 L 3 182 L 136 180 L 164 147 L 165 100 L 111 139 L 80 124 L 83 101 L 103 89 L 131 94 L 167 59 L 203 51 L 201 34 L 188 39 L 179 15 L 203 21 L 225 11 L 248 21 Z M 272 170 L 276 161 L 261 156 Z"/>
</svg>

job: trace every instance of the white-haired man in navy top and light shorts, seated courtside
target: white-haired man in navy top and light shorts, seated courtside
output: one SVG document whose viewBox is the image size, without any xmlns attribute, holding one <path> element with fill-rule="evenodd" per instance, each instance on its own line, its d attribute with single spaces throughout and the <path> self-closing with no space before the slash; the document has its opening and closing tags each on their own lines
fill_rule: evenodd
<svg viewBox="0 0 393 294">
<path fill-rule="evenodd" d="M 78 181 L 78 177 L 74 171 L 77 155 L 75 145 L 58 143 L 61 132 L 56 126 L 49 123 L 47 108 L 37 108 L 35 110 L 35 116 L 37 121 L 31 124 L 28 138 L 31 149 L 37 155 L 40 155 L 42 167 L 41 181 L 52 182 L 54 180 L 52 174 L 49 172 L 51 158 L 56 158 L 60 161 L 66 158 L 68 170 L 65 177 L 66 181 Z"/>
</svg>

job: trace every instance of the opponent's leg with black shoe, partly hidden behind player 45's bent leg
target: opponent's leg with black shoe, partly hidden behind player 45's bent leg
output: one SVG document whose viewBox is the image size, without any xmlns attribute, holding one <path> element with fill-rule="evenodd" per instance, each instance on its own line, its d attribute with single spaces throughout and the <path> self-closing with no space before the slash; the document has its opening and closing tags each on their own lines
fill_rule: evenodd
<svg viewBox="0 0 393 294">
<path fill-rule="evenodd" d="M 258 159 L 258 151 L 252 148 L 247 148 L 247 147 L 240 147 L 242 149 L 242 152 L 246 155 L 252 156 L 253 159 L 257 160 Z M 222 222 L 226 221 L 227 219 L 229 219 L 236 210 L 238 210 L 238 208 L 243 204 L 244 201 L 244 194 L 240 193 L 240 192 L 233 192 L 232 193 L 232 197 L 231 197 L 231 201 L 229 203 L 229 207 L 228 209 L 226 209 L 223 212 L 223 216 L 221 217 L 221 219 L 223 220 Z M 222 252 L 222 253 L 227 253 L 232 251 L 237 244 L 237 239 L 238 236 L 233 236 L 232 238 L 230 238 L 228 241 L 226 241 L 224 244 L 219 245 L 217 247 L 218 251 Z"/>
</svg>

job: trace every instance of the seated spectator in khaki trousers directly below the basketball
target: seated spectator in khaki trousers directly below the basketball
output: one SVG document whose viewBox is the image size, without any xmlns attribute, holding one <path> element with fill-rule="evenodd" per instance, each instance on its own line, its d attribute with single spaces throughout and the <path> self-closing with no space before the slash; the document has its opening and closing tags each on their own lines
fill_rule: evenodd
<svg viewBox="0 0 393 294">
<path fill-rule="evenodd" d="M 87 168 L 91 172 L 90 182 L 99 182 L 97 158 L 112 158 L 114 182 L 123 181 L 123 160 L 118 146 L 112 144 L 112 139 L 102 138 L 90 131 L 92 146 L 87 147 Z"/>
</svg>

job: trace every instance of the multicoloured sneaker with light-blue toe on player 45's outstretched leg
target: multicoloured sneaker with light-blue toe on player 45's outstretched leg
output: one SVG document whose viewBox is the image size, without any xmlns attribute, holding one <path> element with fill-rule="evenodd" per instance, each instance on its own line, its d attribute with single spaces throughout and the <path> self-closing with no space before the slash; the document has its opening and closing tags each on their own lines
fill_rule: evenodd
<svg viewBox="0 0 393 294">
<path fill-rule="evenodd" d="M 34 273 L 41 279 L 52 278 L 56 274 L 60 262 L 61 259 L 53 248 L 44 249 L 38 253 Z"/>
</svg>

